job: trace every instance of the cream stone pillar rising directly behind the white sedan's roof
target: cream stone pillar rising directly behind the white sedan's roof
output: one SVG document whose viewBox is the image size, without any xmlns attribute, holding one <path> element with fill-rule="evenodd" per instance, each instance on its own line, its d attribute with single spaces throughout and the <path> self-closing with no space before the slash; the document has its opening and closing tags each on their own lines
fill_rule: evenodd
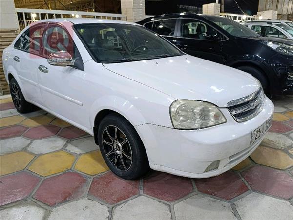
<svg viewBox="0 0 293 220">
<path fill-rule="evenodd" d="M 121 14 L 127 21 L 136 22 L 146 18 L 145 0 L 121 0 Z"/>
</svg>

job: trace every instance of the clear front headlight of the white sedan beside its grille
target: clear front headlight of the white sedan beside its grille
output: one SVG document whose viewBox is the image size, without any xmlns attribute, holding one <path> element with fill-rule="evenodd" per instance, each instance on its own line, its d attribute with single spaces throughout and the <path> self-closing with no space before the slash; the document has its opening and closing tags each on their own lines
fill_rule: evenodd
<svg viewBox="0 0 293 220">
<path fill-rule="evenodd" d="M 173 127 L 184 130 L 211 127 L 227 121 L 215 105 L 195 100 L 174 101 L 170 115 Z"/>
</svg>

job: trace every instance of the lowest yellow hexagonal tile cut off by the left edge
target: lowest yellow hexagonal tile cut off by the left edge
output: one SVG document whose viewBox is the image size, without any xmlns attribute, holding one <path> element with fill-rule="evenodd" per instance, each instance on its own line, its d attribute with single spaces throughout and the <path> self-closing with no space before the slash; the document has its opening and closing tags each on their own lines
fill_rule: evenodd
<svg viewBox="0 0 293 220">
<path fill-rule="evenodd" d="M 23 170 L 34 157 L 23 151 L 0 156 L 0 176 Z"/>
</svg>

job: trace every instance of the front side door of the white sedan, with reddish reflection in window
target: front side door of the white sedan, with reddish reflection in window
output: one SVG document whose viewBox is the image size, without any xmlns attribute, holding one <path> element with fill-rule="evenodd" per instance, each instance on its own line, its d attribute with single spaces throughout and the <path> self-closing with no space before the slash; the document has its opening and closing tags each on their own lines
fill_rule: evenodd
<svg viewBox="0 0 293 220">
<path fill-rule="evenodd" d="M 83 61 L 67 29 L 58 23 L 50 23 L 42 41 L 43 55 L 66 51 L 75 62 Z M 83 106 L 83 69 L 71 66 L 54 66 L 43 59 L 39 66 L 39 81 L 44 107 L 55 115 L 80 126 L 86 127 L 86 112 Z"/>
</svg>

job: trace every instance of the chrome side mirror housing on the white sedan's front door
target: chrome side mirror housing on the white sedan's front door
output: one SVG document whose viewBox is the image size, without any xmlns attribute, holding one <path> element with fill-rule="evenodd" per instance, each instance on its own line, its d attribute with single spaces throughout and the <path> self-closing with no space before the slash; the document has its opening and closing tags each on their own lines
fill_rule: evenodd
<svg viewBox="0 0 293 220">
<path fill-rule="evenodd" d="M 74 61 L 66 51 L 51 53 L 48 57 L 48 63 L 54 66 L 73 66 Z"/>
</svg>

